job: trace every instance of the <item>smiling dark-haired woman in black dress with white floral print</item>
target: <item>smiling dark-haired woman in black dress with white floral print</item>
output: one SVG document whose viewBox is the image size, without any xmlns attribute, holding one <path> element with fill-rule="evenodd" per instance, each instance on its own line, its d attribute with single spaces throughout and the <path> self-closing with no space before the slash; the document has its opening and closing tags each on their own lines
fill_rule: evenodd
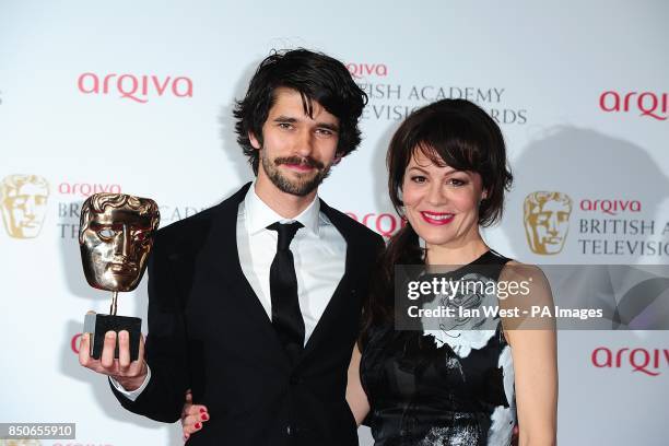
<svg viewBox="0 0 669 446">
<path fill-rule="evenodd" d="M 498 126 L 470 102 L 436 102 L 400 126 L 387 165 L 390 199 L 407 225 L 379 262 L 352 355 L 347 400 L 356 422 L 369 425 L 377 446 L 508 445 L 516 423 L 520 446 L 553 445 L 558 367 L 550 324 L 520 330 L 527 320 L 514 315 L 480 318 L 476 325 L 485 329 L 479 330 L 462 330 L 453 318 L 395 329 L 398 265 L 462 266 L 449 278 L 473 274 L 498 290 L 526 281 L 529 296 L 494 295 L 493 303 L 509 310 L 552 305 L 539 269 L 496 254 L 481 236 L 501 219 L 513 179 Z M 454 302 L 437 297 L 422 304 Z M 491 296 L 466 297 L 472 307 Z M 202 427 L 202 410 L 185 407 L 186 436 Z"/>
</svg>

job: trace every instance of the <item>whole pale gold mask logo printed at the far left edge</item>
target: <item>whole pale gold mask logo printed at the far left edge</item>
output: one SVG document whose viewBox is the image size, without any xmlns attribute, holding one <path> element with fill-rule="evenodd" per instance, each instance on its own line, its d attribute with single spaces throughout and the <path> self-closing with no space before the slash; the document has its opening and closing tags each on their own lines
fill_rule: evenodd
<svg viewBox="0 0 669 446">
<path fill-rule="evenodd" d="M 49 184 L 36 175 L 10 175 L 0 184 L 0 207 L 7 233 L 14 238 L 39 235 L 47 211 Z"/>
</svg>

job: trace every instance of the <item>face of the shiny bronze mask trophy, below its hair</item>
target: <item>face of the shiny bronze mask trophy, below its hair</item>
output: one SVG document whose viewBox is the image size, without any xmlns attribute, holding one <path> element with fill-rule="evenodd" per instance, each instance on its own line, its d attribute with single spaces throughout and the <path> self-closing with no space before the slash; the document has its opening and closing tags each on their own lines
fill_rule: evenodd
<svg viewBox="0 0 669 446">
<path fill-rule="evenodd" d="M 106 208 L 90 213 L 83 232 L 81 257 L 91 286 L 107 291 L 132 291 L 151 250 L 151 215 L 132 209 Z"/>
</svg>

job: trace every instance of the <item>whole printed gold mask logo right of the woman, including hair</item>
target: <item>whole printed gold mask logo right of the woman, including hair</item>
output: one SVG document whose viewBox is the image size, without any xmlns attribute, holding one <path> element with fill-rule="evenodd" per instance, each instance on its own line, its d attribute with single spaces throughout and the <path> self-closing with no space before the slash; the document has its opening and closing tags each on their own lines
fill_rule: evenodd
<svg viewBox="0 0 669 446">
<path fill-rule="evenodd" d="M 537 191 L 525 198 L 523 208 L 530 249 L 542 255 L 562 251 L 570 230 L 572 199 L 562 192 Z"/>
</svg>

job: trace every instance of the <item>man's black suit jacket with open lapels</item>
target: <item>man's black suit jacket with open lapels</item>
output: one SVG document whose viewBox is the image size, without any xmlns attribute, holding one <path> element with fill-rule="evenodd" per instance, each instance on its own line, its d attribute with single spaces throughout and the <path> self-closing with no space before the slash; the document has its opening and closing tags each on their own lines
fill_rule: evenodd
<svg viewBox="0 0 669 446">
<path fill-rule="evenodd" d="M 129 411 L 175 422 L 192 389 L 211 420 L 189 445 L 357 445 L 347 369 L 383 239 L 320 202 L 347 242 L 345 270 L 292 365 L 239 266 L 237 209 L 248 188 L 157 232 L 149 260 L 152 376 L 136 401 L 113 390 Z"/>
</svg>

